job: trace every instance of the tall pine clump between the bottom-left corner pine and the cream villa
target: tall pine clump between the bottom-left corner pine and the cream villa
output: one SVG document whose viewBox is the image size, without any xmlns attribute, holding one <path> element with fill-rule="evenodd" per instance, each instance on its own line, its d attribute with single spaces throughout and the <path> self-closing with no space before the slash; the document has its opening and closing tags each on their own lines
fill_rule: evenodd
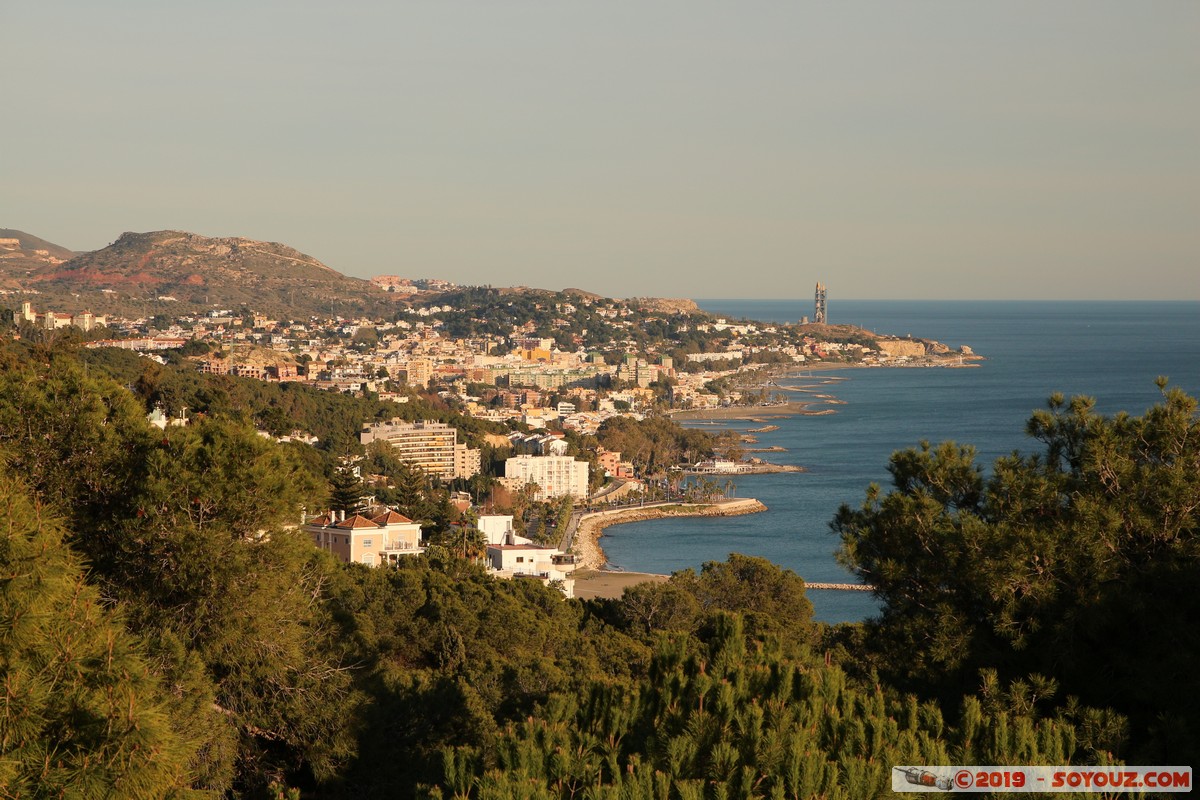
<svg viewBox="0 0 1200 800">
<path fill-rule="evenodd" d="M 158 432 L 126 390 L 61 356 L 0 375 L 0 441 L 66 516 L 89 582 L 126 603 L 160 674 L 212 698 L 176 718 L 204 740 L 205 780 L 226 786 L 236 769 L 235 783 L 262 787 L 299 764 L 329 776 L 350 756 L 358 700 L 324 602 L 332 567 L 286 529 L 323 487 L 293 451 L 229 421 Z"/>
</svg>

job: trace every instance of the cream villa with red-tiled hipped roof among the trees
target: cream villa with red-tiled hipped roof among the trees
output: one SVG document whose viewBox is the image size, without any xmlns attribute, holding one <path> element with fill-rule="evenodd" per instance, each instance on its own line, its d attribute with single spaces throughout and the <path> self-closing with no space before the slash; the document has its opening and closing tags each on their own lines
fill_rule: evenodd
<svg viewBox="0 0 1200 800">
<path fill-rule="evenodd" d="M 425 552 L 421 527 L 390 509 L 370 518 L 330 511 L 305 521 L 301 530 L 343 563 L 379 566 Z"/>
</svg>

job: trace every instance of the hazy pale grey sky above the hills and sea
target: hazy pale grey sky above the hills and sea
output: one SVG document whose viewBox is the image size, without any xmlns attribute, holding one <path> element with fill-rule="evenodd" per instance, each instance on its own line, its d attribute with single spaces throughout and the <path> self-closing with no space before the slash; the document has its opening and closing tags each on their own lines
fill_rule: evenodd
<svg viewBox="0 0 1200 800">
<path fill-rule="evenodd" d="M 5 0 L 0 227 L 613 296 L 1200 299 L 1200 2 Z"/>
</svg>

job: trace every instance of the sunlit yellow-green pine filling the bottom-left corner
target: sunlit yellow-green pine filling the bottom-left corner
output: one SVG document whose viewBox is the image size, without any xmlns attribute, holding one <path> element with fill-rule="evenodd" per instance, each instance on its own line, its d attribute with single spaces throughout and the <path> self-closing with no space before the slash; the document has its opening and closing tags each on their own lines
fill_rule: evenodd
<svg viewBox="0 0 1200 800">
<path fill-rule="evenodd" d="M 0 512 L 0 792 L 188 796 L 198 742 L 142 648 L 7 470 Z"/>
</svg>

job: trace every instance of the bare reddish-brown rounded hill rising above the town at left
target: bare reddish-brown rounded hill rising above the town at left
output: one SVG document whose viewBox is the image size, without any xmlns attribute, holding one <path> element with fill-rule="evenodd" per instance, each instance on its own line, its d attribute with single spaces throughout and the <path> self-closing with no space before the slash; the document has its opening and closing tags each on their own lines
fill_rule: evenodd
<svg viewBox="0 0 1200 800">
<path fill-rule="evenodd" d="M 125 233 L 23 281 L 62 311 L 181 313 L 220 306 L 290 317 L 373 313 L 394 296 L 277 242 L 180 230 Z"/>
</svg>

